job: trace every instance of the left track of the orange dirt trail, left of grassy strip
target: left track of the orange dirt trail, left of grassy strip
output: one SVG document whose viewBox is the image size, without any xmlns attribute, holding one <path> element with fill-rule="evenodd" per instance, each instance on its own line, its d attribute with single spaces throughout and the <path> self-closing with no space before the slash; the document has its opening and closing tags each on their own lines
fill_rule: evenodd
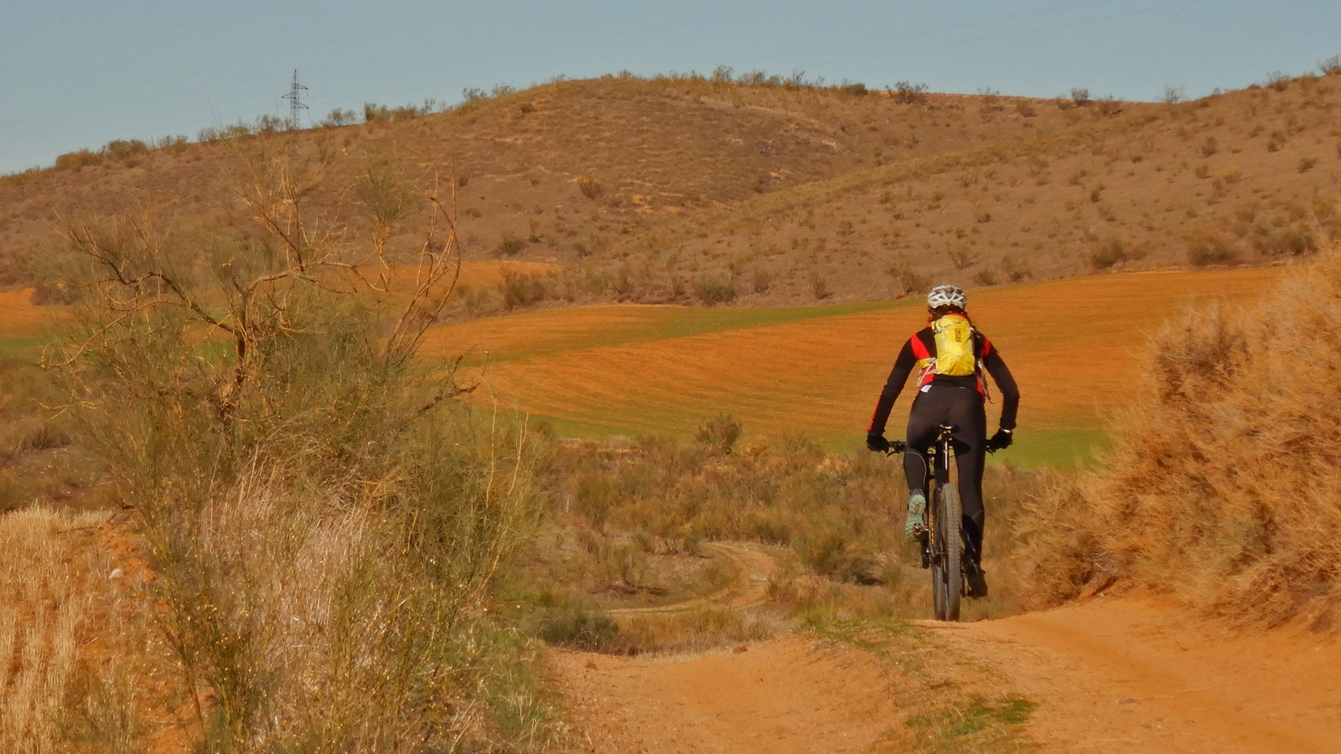
<svg viewBox="0 0 1341 754">
<path fill-rule="evenodd" d="M 561 649 L 551 664 L 599 754 L 857 753 L 897 719 L 865 652 L 801 636 L 688 661 Z"/>
</svg>

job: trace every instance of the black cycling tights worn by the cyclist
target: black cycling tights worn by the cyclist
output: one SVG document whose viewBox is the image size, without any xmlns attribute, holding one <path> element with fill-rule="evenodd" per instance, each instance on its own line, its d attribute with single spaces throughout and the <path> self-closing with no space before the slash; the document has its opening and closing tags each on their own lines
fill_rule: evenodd
<svg viewBox="0 0 1341 754">
<path fill-rule="evenodd" d="M 955 427 L 955 462 L 959 466 L 959 498 L 964 506 L 964 533 L 974 562 L 983 553 L 983 460 L 987 457 L 987 412 L 983 396 L 972 388 L 932 384 L 917 393 L 908 415 L 908 449 L 904 474 L 908 491 L 921 491 L 927 480 L 927 448 L 936 443 L 941 424 Z"/>
</svg>

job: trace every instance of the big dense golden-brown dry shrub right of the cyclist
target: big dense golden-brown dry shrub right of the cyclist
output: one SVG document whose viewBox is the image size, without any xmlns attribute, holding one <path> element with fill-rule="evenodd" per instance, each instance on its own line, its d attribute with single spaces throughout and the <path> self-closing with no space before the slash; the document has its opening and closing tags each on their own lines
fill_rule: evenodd
<svg viewBox="0 0 1341 754">
<path fill-rule="evenodd" d="M 1185 314 L 1152 343 L 1106 463 L 1019 518 L 1058 600 L 1112 577 L 1216 612 L 1329 627 L 1341 605 L 1341 250 L 1258 307 Z"/>
</svg>

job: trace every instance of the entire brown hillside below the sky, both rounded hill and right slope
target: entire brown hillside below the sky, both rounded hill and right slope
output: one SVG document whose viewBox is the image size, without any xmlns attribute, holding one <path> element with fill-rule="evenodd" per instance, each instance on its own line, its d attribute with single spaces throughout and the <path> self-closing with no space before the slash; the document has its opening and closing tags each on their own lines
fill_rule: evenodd
<svg viewBox="0 0 1341 754">
<path fill-rule="evenodd" d="M 1262 263 L 1316 243 L 1341 177 L 1338 82 L 1143 105 L 557 80 L 409 121 L 9 176 L 0 275 L 38 275 L 62 216 L 221 216 L 244 158 L 274 142 L 330 157 L 308 211 L 337 219 L 355 216 L 369 165 L 422 185 L 455 169 L 468 258 L 565 266 L 522 301 L 862 301 L 932 278 Z"/>
</svg>

